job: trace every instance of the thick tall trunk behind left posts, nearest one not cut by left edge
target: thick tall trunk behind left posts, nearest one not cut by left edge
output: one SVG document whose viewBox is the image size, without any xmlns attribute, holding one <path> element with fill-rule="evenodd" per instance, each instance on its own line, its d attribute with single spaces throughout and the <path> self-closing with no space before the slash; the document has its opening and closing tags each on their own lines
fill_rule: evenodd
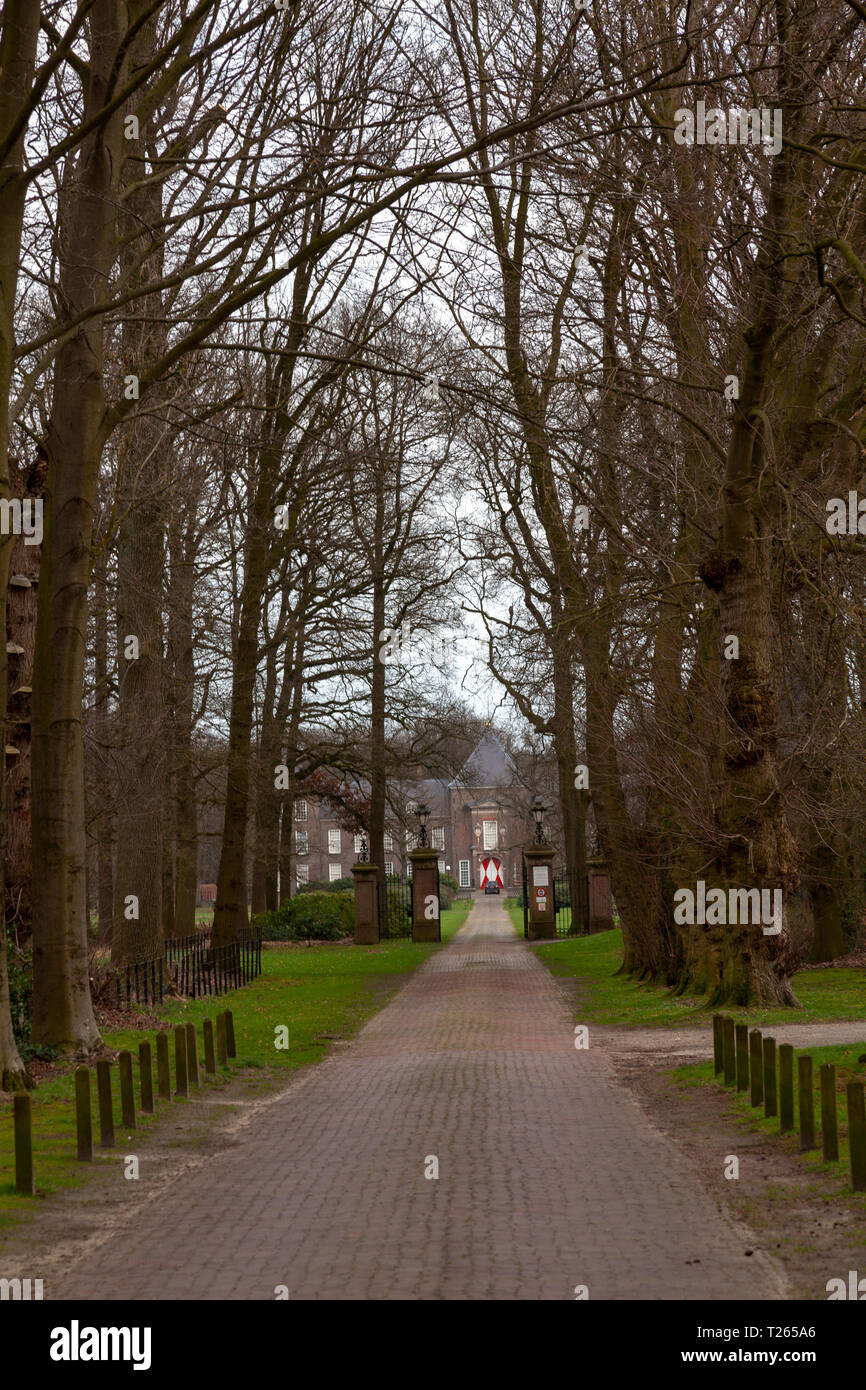
<svg viewBox="0 0 866 1390">
<path fill-rule="evenodd" d="M 124 7 L 95 0 L 85 118 L 110 97 Z M 71 318 L 104 295 L 115 254 L 120 111 L 95 126 L 61 188 L 60 297 Z M 90 535 L 106 435 L 103 317 L 75 328 L 54 361 L 49 481 L 33 681 L 33 1040 L 90 1051 L 99 1029 L 88 974 L 82 694 Z"/>
</svg>

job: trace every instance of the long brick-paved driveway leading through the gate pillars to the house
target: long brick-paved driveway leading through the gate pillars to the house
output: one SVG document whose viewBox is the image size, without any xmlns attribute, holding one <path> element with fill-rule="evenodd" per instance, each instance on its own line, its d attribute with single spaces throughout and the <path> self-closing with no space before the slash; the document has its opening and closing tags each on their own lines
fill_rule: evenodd
<svg viewBox="0 0 866 1390">
<path fill-rule="evenodd" d="M 784 1295 L 589 1038 L 574 1048 L 555 980 L 480 898 L 354 1042 L 51 1297 Z"/>
</svg>

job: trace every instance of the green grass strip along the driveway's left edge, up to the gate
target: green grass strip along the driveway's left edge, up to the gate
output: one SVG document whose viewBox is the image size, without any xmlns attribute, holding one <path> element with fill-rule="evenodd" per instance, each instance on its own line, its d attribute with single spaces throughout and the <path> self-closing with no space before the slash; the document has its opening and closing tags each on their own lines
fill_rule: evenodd
<svg viewBox="0 0 866 1390">
<path fill-rule="evenodd" d="M 471 903 L 456 903 L 442 913 L 442 938 L 450 940 L 466 920 Z M 331 1049 L 331 1041 L 317 1034 L 339 1033 L 343 1038 L 356 1033 L 367 1019 L 382 1008 L 399 987 L 402 977 L 417 970 L 439 945 L 414 945 L 411 941 L 382 942 L 375 947 L 320 942 L 291 949 L 264 949 L 261 976 L 242 990 L 220 998 L 182 1002 L 167 1001 L 156 1012 L 170 1027 L 195 1023 L 199 1036 L 199 1056 L 204 1070 L 202 1022 L 214 1019 L 229 1008 L 235 1017 L 238 1056 L 229 1066 L 209 1077 L 207 1088 L 231 1080 L 239 1069 L 257 1077 L 261 1087 L 279 1084 L 282 1074 L 320 1062 Z M 140 1011 L 146 1012 L 146 1011 Z M 289 1030 L 289 1047 L 277 1051 L 275 1027 Z M 154 1051 L 154 1031 L 128 1029 L 107 1033 L 110 1048 L 128 1048 L 133 1055 L 136 1106 L 139 1101 L 138 1047 L 149 1040 Z M 174 1077 L 174 1042 L 171 1047 Z M 32 1091 L 33 1102 L 33 1166 L 38 1198 L 63 1187 L 78 1187 L 88 1180 L 92 1168 L 117 1163 L 118 1155 L 129 1152 L 126 1133 L 120 1125 L 120 1090 L 117 1068 L 113 1068 L 115 1095 L 117 1148 L 96 1151 L 93 1165 L 75 1159 L 74 1074 L 63 1074 L 42 1081 Z M 156 1087 L 156 1077 L 154 1077 Z M 193 1093 L 195 1094 L 195 1093 Z M 93 1123 L 96 1127 L 96 1084 L 93 1086 Z M 157 1102 L 161 1109 L 168 1102 Z M 172 1104 L 186 1104 L 183 1101 Z M 14 1188 L 11 1098 L 0 1102 L 0 1226 L 33 1212 L 38 1205 L 31 1197 L 21 1197 Z M 157 1116 L 138 1115 L 139 1130 L 147 1133 Z"/>
</svg>

